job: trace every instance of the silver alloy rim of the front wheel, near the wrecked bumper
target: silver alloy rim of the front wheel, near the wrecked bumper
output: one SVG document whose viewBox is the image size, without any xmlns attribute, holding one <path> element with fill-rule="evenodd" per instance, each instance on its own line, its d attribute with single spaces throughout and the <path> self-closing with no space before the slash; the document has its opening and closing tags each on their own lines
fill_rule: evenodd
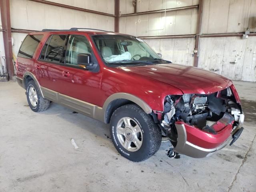
<svg viewBox="0 0 256 192">
<path fill-rule="evenodd" d="M 123 117 L 118 121 L 116 135 L 121 145 L 128 151 L 135 152 L 142 146 L 140 126 L 130 117 Z"/>
</svg>

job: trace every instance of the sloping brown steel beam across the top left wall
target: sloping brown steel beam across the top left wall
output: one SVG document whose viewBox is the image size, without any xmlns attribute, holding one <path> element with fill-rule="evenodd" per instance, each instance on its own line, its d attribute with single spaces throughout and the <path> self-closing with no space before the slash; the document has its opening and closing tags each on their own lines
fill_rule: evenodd
<svg viewBox="0 0 256 192">
<path fill-rule="evenodd" d="M 78 11 L 83 11 L 83 12 L 88 12 L 88 13 L 94 13 L 94 14 L 114 17 L 114 15 L 109 14 L 109 13 L 94 11 L 94 10 L 90 10 L 90 9 L 84 9 L 84 8 L 80 8 L 80 7 L 74 7 L 74 6 L 50 2 L 50 1 L 46 1 L 46 0 L 30 0 L 30 1 L 44 3 L 44 4 L 53 5 L 53 6 L 57 6 L 57 7 L 63 7 L 63 8 L 67 8 L 67 9 L 73 9 L 73 10 L 78 10 Z"/>
</svg>

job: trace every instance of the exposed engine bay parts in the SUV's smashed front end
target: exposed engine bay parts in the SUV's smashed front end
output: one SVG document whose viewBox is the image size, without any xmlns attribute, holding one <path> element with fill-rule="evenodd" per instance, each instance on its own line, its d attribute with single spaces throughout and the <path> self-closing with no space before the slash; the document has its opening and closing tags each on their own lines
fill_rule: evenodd
<svg viewBox="0 0 256 192">
<path fill-rule="evenodd" d="M 216 134 L 222 127 L 238 124 L 240 106 L 236 104 L 230 88 L 213 94 L 168 95 L 164 103 L 164 119 L 161 127 L 173 144 L 177 142 L 176 121 Z"/>
</svg>

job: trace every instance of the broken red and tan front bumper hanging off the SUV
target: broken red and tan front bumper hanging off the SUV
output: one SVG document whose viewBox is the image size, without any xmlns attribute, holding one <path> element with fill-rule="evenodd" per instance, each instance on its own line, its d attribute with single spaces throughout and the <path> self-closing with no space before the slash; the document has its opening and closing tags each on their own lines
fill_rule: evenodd
<svg viewBox="0 0 256 192">
<path fill-rule="evenodd" d="M 232 124 L 229 124 L 216 134 L 204 132 L 181 121 L 176 122 L 178 141 L 173 150 L 193 158 L 208 157 L 229 144 L 233 139 L 233 136 L 242 127 L 243 122 L 244 114 L 241 114 L 239 124 L 234 130 L 232 129 Z M 240 134 L 238 137 L 239 136 Z"/>
</svg>

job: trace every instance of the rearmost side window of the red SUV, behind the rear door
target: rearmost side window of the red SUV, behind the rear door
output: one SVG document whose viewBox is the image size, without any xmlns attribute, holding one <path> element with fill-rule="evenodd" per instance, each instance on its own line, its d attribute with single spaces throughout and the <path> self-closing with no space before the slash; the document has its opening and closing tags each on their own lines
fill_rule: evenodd
<svg viewBox="0 0 256 192">
<path fill-rule="evenodd" d="M 28 35 L 24 39 L 22 45 L 20 46 L 20 50 L 18 52 L 18 57 L 32 59 L 34 53 L 36 52 L 36 48 L 40 41 L 42 40 L 43 35 Z"/>
</svg>

